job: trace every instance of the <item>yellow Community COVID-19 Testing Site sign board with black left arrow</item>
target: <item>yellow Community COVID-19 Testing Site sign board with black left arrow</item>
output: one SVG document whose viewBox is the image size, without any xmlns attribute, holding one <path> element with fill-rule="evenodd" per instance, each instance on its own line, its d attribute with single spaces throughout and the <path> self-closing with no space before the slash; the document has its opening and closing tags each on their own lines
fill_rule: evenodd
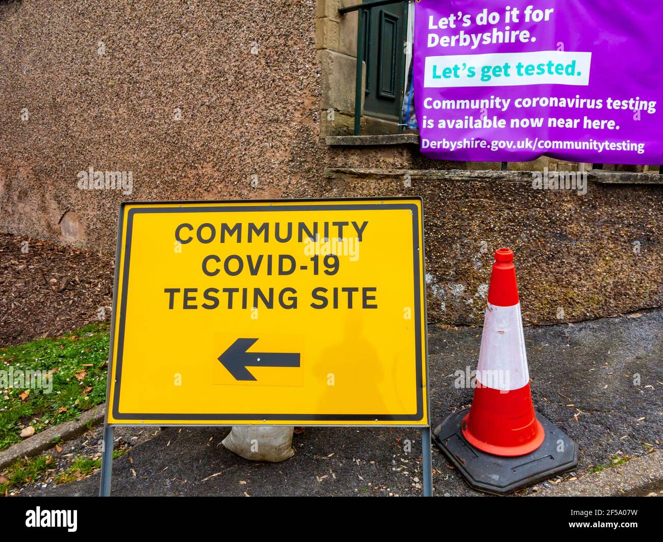
<svg viewBox="0 0 663 542">
<path fill-rule="evenodd" d="M 107 423 L 428 425 L 418 198 L 124 203 Z"/>
</svg>

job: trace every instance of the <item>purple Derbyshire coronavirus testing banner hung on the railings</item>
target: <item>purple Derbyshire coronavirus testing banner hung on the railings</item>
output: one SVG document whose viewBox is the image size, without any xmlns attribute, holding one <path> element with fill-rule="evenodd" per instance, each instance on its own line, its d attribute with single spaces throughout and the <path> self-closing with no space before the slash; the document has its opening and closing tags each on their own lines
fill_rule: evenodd
<svg viewBox="0 0 663 542">
<path fill-rule="evenodd" d="M 422 154 L 663 164 L 662 0 L 414 5 Z"/>
</svg>

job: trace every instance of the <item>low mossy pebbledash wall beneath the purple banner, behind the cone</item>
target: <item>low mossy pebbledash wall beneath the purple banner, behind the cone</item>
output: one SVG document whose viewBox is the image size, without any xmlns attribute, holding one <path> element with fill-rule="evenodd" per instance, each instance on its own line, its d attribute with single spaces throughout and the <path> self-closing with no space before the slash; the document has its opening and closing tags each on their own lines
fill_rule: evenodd
<svg viewBox="0 0 663 542">
<path fill-rule="evenodd" d="M 514 251 L 525 323 L 663 305 L 658 175 L 590 172 L 584 195 L 533 190 L 528 172 L 330 169 L 325 175 L 334 195 L 424 198 L 432 322 L 483 323 L 493 254 L 501 246 Z"/>
</svg>

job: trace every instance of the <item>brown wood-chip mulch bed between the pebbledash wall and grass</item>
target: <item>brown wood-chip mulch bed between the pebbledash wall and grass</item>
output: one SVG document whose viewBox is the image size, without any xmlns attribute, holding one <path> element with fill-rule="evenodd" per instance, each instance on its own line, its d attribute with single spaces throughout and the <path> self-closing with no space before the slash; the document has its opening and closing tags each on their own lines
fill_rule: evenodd
<svg viewBox="0 0 663 542">
<path fill-rule="evenodd" d="M 0 233 L 0 346 L 56 337 L 109 319 L 113 260 Z"/>
</svg>

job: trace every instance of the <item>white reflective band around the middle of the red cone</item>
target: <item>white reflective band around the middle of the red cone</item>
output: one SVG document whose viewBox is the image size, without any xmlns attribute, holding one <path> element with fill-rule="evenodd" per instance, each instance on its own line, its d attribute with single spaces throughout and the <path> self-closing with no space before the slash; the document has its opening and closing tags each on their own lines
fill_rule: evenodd
<svg viewBox="0 0 663 542">
<path fill-rule="evenodd" d="M 477 380 L 493 390 L 518 390 L 530 381 L 520 303 L 498 307 L 488 303 L 483 319 Z"/>
</svg>

